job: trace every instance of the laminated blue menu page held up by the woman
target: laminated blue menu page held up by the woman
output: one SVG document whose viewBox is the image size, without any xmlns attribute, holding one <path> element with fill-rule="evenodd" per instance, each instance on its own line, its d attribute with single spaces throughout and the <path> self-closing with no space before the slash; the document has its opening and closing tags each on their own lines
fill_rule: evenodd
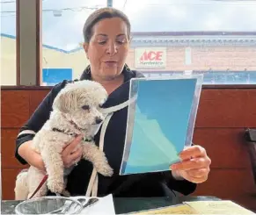
<svg viewBox="0 0 256 215">
<path fill-rule="evenodd" d="M 120 175 L 165 171 L 191 145 L 202 75 L 134 78 Z"/>
</svg>

